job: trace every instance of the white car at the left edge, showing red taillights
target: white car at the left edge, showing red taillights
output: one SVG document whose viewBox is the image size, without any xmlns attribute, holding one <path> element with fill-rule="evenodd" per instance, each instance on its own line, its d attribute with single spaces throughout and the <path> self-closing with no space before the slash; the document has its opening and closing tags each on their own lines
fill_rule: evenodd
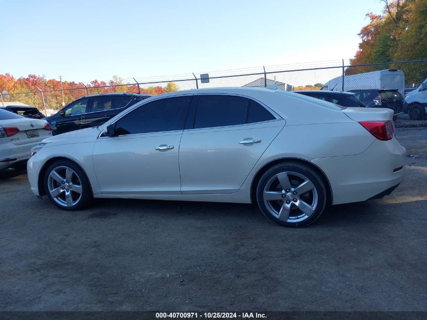
<svg viewBox="0 0 427 320">
<path fill-rule="evenodd" d="M 52 136 L 46 120 L 31 119 L 0 110 L 0 170 L 13 166 L 25 167 L 31 148 Z"/>
</svg>

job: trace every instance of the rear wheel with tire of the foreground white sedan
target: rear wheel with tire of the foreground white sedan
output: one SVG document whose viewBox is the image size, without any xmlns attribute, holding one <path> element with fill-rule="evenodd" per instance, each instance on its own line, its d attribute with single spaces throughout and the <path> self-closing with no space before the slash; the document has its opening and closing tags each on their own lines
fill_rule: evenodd
<svg viewBox="0 0 427 320">
<path fill-rule="evenodd" d="M 260 178 L 257 202 L 270 220 L 291 227 L 313 223 L 326 205 L 322 177 L 310 166 L 287 162 L 269 168 Z"/>
</svg>

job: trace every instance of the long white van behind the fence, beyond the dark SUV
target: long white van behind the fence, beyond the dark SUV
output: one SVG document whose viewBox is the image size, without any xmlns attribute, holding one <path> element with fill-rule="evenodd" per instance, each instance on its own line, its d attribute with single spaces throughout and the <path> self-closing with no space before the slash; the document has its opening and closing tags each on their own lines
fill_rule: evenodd
<svg viewBox="0 0 427 320">
<path fill-rule="evenodd" d="M 327 81 L 321 90 L 343 90 L 343 77 Z M 402 70 L 385 69 L 344 76 L 344 91 L 357 89 L 397 89 L 405 95 L 405 76 Z"/>
</svg>

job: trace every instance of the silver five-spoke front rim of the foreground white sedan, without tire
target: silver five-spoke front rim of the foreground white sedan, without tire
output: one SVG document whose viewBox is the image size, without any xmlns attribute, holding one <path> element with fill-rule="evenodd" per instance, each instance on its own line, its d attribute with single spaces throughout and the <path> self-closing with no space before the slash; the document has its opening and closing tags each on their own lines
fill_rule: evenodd
<svg viewBox="0 0 427 320">
<path fill-rule="evenodd" d="M 48 189 L 52 199 L 64 207 L 76 205 L 83 191 L 77 173 L 66 166 L 58 166 L 51 171 Z"/>
</svg>

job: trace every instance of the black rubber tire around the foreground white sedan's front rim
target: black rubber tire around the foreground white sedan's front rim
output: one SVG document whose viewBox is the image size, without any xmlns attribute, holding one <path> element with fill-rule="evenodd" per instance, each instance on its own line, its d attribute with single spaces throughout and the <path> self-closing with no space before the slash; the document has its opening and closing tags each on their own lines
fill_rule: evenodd
<svg viewBox="0 0 427 320">
<path fill-rule="evenodd" d="M 74 173 L 77 175 L 78 179 L 81 183 L 81 194 L 77 203 L 72 206 L 61 205 L 58 203 L 49 192 L 48 179 L 51 172 L 58 167 L 68 167 L 71 168 Z M 90 188 L 89 180 L 86 177 L 84 171 L 73 161 L 71 160 L 58 160 L 52 163 L 43 177 L 44 190 L 46 191 L 46 195 L 48 198 L 58 207 L 67 211 L 76 211 L 87 207 L 93 199 L 92 190 Z M 71 188 L 70 188 L 71 189 Z M 67 190 L 68 191 L 68 190 Z"/>
</svg>

